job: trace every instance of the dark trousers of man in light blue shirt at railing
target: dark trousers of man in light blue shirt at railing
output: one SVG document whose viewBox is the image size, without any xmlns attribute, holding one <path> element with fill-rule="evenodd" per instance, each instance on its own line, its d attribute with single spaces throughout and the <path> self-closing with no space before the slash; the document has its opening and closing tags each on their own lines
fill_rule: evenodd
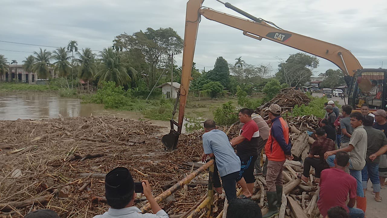
<svg viewBox="0 0 387 218">
<path fill-rule="evenodd" d="M 239 171 L 236 171 L 235 173 L 230 173 L 228 175 L 222 176 L 222 183 L 223 183 L 223 189 L 226 193 L 227 201 L 231 201 L 232 199 L 236 199 L 236 186 L 235 182 L 237 181 L 237 178 L 239 176 Z M 216 164 L 214 164 L 214 187 L 219 188 L 222 187 L 219 179 L 219 174 L 216 168 Z"/>
</svg>

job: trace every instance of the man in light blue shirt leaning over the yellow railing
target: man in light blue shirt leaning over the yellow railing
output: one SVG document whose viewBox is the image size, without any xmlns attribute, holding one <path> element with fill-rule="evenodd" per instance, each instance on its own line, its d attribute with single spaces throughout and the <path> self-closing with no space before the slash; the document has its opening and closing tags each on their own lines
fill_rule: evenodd
<svg viewBox="0 0 387 218">
<path fill-rule="evenodd" d="M 217 193 L 222 192 L 219 175 L 222 178 L 223 189 L 226 192 L 228 201 L 236 198 L 235 181 L 242 187 L 242 197 L 251 197 L 252 193 L 248 191 L 245 179 L 239 176 L 241 170 L 241 161 L 235 154 L 233 147 L 228 140 L 226 133 L 216 129 L 216 123 L 212 119 L 204 122 L 202 161 L 207 156 L 215 157 L 217 170 L 214 169 L 214 188 Z M 238 179 L 240 178 L 240 179 Z"/>
</svg>

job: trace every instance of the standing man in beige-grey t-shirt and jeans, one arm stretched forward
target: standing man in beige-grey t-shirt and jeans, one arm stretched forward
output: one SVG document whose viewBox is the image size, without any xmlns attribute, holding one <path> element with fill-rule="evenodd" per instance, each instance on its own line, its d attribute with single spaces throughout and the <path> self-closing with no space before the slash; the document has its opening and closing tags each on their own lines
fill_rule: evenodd
<svg viewBox="0 0 387 218">
<path fill-rule="evenodd" d="M 336 151 L 327 151 L 324 154 L 325 159 L 330 167 L 334 167 L 333 160 L 335 154 L 339 151 L 349 152 L 349 173 L 356 179 L 357 182 L 357 197 L 356 206 L 364 212 L 367 206 L 367 200 L 364 197 L 363 185 L 361 182 L 361 170 L 365 166 L 366 152 L 367 152 L 367 132 L 363 128 L 363 114 L 360 112 L 353 112 L 349 116 L 351 126 L 354 128 L 349 140 L 348 147 L 341 148 Z"/>
</svg>

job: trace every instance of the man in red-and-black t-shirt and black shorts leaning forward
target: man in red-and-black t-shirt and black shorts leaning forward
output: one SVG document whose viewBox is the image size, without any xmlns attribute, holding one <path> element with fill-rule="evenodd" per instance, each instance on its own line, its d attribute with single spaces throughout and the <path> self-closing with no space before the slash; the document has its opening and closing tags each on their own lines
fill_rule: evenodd
<svg viewBox="0 0 387 218">
<path fill-rule="evenodd" d="M 251 118 L 253 110 L 242 108 L 239 111 L 239 120 L 244 123 L 240 134 L 231 140 L 231 146 L 236 146 L 236 153 L 241 160 L 240 178 L 245 178 L 250 193 L 254 189 L 254 163 L 258 157 L 259 129 L 257 123 Z M 248 196 L 245 196 L 248 197 Z"/>
</svg>

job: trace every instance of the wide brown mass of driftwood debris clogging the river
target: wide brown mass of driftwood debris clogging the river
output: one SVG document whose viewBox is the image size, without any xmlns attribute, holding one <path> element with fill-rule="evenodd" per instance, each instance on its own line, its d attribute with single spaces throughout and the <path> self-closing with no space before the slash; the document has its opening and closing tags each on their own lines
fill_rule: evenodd
<svg viewBox="0 0 387 218">
<path fill-rule="evenodd" d="M 189 174 L 194 167 L 186 162 L 199 161 L 202 152 L 202 133 L 181 135 L 178 149 L 166 152 L 161 127 L 110 116 L 0 121 L 0 126 L 0 217 L 48 208 L 63 218 L 90 218 L 108 209 L 104 176 L 113 168 L 125 166 L 135 180 L 149 180 L 156 196 Z M 206 195 L 205 174 L 161 206 L 170 215 L 195 206 Z M 217 201 L 223 207 L 222 199 Z M 140 196 L 136 202 L 140 208 L 146 203 Z"/>
</svg>

